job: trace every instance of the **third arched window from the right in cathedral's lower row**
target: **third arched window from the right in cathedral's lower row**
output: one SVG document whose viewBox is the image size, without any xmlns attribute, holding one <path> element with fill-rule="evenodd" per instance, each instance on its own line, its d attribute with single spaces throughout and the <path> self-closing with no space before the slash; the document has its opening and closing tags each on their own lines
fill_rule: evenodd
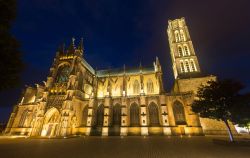
<svg viewBox="0 0 250 158">
<path fill-rule="evenodd" d="M 139 106 L 137 104 L 130 106 L 130 126 L 140 126 Z"/>
</svg>

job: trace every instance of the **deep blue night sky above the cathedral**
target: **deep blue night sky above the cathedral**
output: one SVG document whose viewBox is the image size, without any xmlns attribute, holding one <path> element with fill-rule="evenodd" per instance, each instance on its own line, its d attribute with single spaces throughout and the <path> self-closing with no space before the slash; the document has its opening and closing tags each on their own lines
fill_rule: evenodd
<svg viewBox="0 0 250 158">
<path fill-rule="evenodd" d="M 59 44 L 84 38 L 93 68 L 150 65 L 158 56 L 164 86 L 173 83 L 166 35 L 168 19 L 185 17 L 201 69 L 243 82 L 250 91 L 248 0 L 19 0 L 13 35 L 26 69 L 22 85 L 0 94 L 6 121 L 24 85 L 46 80 Z"/>
</svg>

